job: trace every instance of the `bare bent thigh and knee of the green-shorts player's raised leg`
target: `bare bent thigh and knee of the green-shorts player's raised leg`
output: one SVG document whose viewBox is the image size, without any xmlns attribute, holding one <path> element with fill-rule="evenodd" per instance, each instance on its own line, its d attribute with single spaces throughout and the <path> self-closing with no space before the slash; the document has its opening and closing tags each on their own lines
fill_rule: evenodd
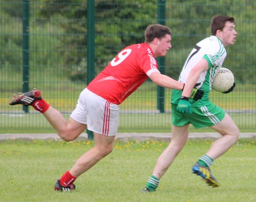
<svg viewBox="0 0 256 202">
<path fill-rule="evenodd" d="M 210 128 L 222 135 L 231 134 L 234 136 L 239 136 L 240 133 L 236 123 L 234 123 L 233 119 L 228 115 L 228 113 L 225 113 L 225 116 L 220 123 L 213 125 Z"/>
</svg>

